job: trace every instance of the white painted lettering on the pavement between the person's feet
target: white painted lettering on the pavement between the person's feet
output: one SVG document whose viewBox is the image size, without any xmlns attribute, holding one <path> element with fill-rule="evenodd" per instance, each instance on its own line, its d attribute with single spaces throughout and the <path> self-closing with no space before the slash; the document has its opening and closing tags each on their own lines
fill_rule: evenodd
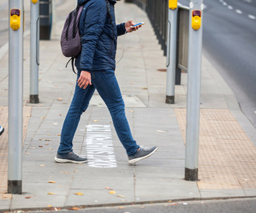
<svg viewBox="0 0 256 213">
<path fill-rule="evenodd" d="M 110 125 L 86 126 L 86 148 L 89 167 L 117 167 Z"/>
</svg>

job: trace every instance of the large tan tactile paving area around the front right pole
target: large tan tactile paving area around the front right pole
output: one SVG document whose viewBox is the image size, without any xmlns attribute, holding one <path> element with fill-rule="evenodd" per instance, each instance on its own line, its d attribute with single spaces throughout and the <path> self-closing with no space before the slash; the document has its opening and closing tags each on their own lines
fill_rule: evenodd
<svg viewBox="0 0 256 213">
<path fill-rule="evenodd" d="M 186 109 L 174 109 L 185 141 Z M 202 109 L 199 189 L 256 188 L 256 148 L 229 110 Z"/>
</svg>

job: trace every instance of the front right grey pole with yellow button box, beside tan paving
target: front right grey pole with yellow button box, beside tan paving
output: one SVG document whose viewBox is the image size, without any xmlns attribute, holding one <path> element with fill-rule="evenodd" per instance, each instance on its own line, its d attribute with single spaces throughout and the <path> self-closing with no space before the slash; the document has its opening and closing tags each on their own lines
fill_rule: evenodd
<svg viewBox="0 0 256 213">
<path fill-rule="evenodd" d="M 189 7 L 190 17 L 185 179 L 187 181 L 197 181 L 202 48 L 202 26 L 198 28 L 198 24 L 202 24 L 203 0 L 191 0 Z M 201 14 L 200 17 L 199 14 Z"/>
</svg>

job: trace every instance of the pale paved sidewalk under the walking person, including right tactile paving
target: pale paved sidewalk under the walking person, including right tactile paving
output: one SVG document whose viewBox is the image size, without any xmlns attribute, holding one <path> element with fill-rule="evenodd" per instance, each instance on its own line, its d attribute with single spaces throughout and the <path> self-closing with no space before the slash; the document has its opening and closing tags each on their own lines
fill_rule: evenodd
<svg viewBox="0 0 256 213">
<path fill-rule="evenodd" d="M 118 2 L 117 22 L 146 22 L 139 31 L 119 38 L 117 78 L 131 130 L 138 144 L 158 151 L 136 165 L 127 164 L 110 115 L 96 93 L 80 120 L 74 151 L 88 163 L 58 164 L 53 160 L 69 108 L 75 75 L 65 69 L 67 58 L 59 38 L 65 15 L 73 5 L 57 7 L 51 41 L 40 42 L 40 104 L 29 104 L 29 38 L 24 40 L 24 158 L 22 195 L 8 195 L 7 131 L 1 136 L 0 211 L 110 206 L 256 197 L 256 131 L 241 112 L 218 71 L 203 56 L 199 179 L 184 180 L 187 74 L 176 87 L 176 103 L 165 103 L 166 58 L 150 21 L 133 4 Z M 72 6 L 73 7 L 73 6 Z M 0 123 L 7 124 L 7 54 L 1 58 Z M 6 128 L 7 130 L 7 128 Z M 3 139 L 2 139 L 3 138 Z M 107 138 L 107 140 L 106 140 Z M 2 142 L 3 141 L 3 142 Z M 96 141 L 100 141 L 102 145 Z M 94 144 L 95 142 L 95 144 Z M 101 154 L 99 154 L 101 153 Z M 4 171 L 4 172 L 2 172 Z"/>
</svg>

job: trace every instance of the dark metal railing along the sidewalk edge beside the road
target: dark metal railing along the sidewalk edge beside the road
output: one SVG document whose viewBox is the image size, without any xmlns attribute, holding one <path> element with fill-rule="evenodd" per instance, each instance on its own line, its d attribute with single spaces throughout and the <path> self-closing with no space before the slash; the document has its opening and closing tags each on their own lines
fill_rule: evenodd
<svg viewBox="0 0 256 213">
<path fill-rule="evenodd" d="M 168 30 L 168 0 L 126 0 L 135 3 L 146 11 L 159 44 L 167 54 Z M 189 46 L 189 7 L 178 4 L 178 30 L 177 30 L 177 72 L 175 84 L 181 84 L 181 70 L 187 71 Z"/>
</svg>

